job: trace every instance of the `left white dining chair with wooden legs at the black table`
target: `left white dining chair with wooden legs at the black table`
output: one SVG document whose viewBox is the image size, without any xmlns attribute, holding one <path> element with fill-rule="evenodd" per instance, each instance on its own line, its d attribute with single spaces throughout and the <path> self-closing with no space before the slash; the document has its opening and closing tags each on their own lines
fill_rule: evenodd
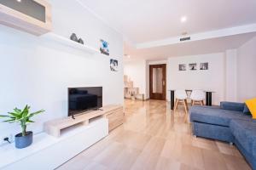
<svg viewBox="0 0 256 170">
<path fill-rule="evenodd" d="M 177 105 L 182 103 L 184 105 L 185 113 L 188 114 L 188 95 L 185 90 L 175 90 L 175 105 L 174 112 L 177 111 Z"/>
</svg>

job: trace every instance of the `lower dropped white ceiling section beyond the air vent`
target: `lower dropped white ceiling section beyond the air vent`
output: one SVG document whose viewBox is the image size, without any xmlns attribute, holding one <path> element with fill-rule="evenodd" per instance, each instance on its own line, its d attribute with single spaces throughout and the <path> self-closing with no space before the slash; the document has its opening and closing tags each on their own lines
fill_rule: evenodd
<svg viewBox="0 0 256 170">
<path fill-rule="evenodd" d="M 125 43 L 125 54 L 129 54 L 130 59 L 125 56 L 125 61 L 133 59 L 167 59 L 168 57 L 177 57 L 196 54 L 221 53 L 226 49 L 239 48 L 241 45 L 256 36 L 256 32 L 240 34 L 230 37 L 218 37 L 207 40 L 177 43 L 156 48 L 136 49 Z"/>
</svg>

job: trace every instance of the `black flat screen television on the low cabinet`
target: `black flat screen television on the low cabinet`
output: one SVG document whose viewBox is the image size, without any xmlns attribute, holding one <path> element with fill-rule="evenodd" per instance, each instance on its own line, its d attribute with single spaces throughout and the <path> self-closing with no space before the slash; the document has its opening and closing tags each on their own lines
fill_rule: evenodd
<svg viewBox="0 0 256 170">
<path fill-rule="evenodd" d="M 68 88 L 68 116 L 102 107 L 102 87 Z"/>
</svg>

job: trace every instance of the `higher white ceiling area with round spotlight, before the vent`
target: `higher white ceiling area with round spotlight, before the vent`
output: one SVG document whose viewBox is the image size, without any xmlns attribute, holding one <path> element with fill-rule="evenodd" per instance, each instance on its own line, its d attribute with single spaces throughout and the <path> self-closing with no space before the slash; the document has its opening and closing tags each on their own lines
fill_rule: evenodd
<svg viewBox="0 0 256 170">
<path fill-rule="evenodd" d="M 255 0 L 80 1 L 136 43 L 256 23 Z"/>
</svg>

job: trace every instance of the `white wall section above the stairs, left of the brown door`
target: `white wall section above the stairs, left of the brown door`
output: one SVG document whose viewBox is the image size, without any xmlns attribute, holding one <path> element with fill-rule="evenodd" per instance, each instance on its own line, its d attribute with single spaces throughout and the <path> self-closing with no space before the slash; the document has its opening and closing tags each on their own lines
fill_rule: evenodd
<svg viewBox="0 0 256 170">
<path fill-rule="evenodd" d="M 133 82 L 134 88 L 139 88 L 140 94 L 146 94 L 146 61 L 125 61 L 124 74 Z"/>
</svg>

